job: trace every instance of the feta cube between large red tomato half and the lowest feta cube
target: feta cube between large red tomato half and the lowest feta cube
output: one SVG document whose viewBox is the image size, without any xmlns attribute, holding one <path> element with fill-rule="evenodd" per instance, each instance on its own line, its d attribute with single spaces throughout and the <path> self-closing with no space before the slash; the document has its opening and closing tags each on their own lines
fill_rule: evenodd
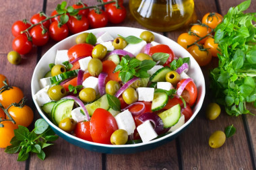
<svg viewBox="0 0 256 170">
<path fill-rule="evenodd" d="M 131 115 L 131 112 L 129 110 L 125 110 L 115 116 L 115 119 L 117 121 L 117 126 L 119 129 L 126 130 L 128 135 L 133 134 L 136 126 L 135 122 L 133 120 L 133 116 Z"/>
</svg>

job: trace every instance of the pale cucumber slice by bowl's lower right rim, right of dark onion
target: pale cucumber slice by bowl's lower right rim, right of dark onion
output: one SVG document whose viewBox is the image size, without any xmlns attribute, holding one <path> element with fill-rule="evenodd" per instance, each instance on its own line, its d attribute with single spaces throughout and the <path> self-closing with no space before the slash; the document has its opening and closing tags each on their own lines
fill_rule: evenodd
<svg viewBox="0 0 256 170">
<path fill-rule="evenodd" d="M 181 106 L 179 104 L 174 105 L 169 110 L 158 114 L 158 116 L 162 119 L 164 128 L 170 128 L 179 122 L 179 119 L 181 118 Z"/>
</svg>

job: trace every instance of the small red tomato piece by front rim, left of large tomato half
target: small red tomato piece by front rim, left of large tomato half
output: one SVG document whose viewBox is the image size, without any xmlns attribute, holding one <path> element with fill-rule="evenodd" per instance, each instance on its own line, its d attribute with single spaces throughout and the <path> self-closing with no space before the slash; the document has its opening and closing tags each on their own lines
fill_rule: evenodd
<svg viewBox="0 0 256 170">
<path fill-rule="evenodd" d="M 75 136 L 92 142 L 92 136 L 90 132 L 90 122 L 79 122 L 75 126 Z"/>
</svg>

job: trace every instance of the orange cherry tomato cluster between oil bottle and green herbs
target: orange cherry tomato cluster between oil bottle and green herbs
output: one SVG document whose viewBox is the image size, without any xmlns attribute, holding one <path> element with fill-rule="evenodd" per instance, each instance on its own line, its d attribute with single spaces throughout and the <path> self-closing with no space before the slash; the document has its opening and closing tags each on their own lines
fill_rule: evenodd
<svg viewBox="0 0 256 170">
<path fill-rule="evenodd" d="M 214 42 L 213 31 L 222 20 L 219 13 L 206 13 L 200 24 L 193 25 L 189 32 L 178 37 L 178 44 L 189 51 L 199 66 L 209 64 L 212 56 L 220 52 L 218 44 Z"/>
</svg>

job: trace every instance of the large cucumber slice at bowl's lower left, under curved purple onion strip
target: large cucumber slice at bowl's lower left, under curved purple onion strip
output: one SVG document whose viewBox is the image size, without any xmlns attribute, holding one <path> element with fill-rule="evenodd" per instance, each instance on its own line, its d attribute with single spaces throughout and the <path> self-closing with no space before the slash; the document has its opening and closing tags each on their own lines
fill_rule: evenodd
<svg viewBox="0 0 256 170">
<path fill-rule="evenodd" d="M 53 120 L 55 124 L 59 125 L 59 122 L 65 118 L 71 118 L 71 111 L 75 100 L 73 99 L 64 99 L 60 103 L 55 104 L 55 108 L 52 111 Z"/>
</svg>

